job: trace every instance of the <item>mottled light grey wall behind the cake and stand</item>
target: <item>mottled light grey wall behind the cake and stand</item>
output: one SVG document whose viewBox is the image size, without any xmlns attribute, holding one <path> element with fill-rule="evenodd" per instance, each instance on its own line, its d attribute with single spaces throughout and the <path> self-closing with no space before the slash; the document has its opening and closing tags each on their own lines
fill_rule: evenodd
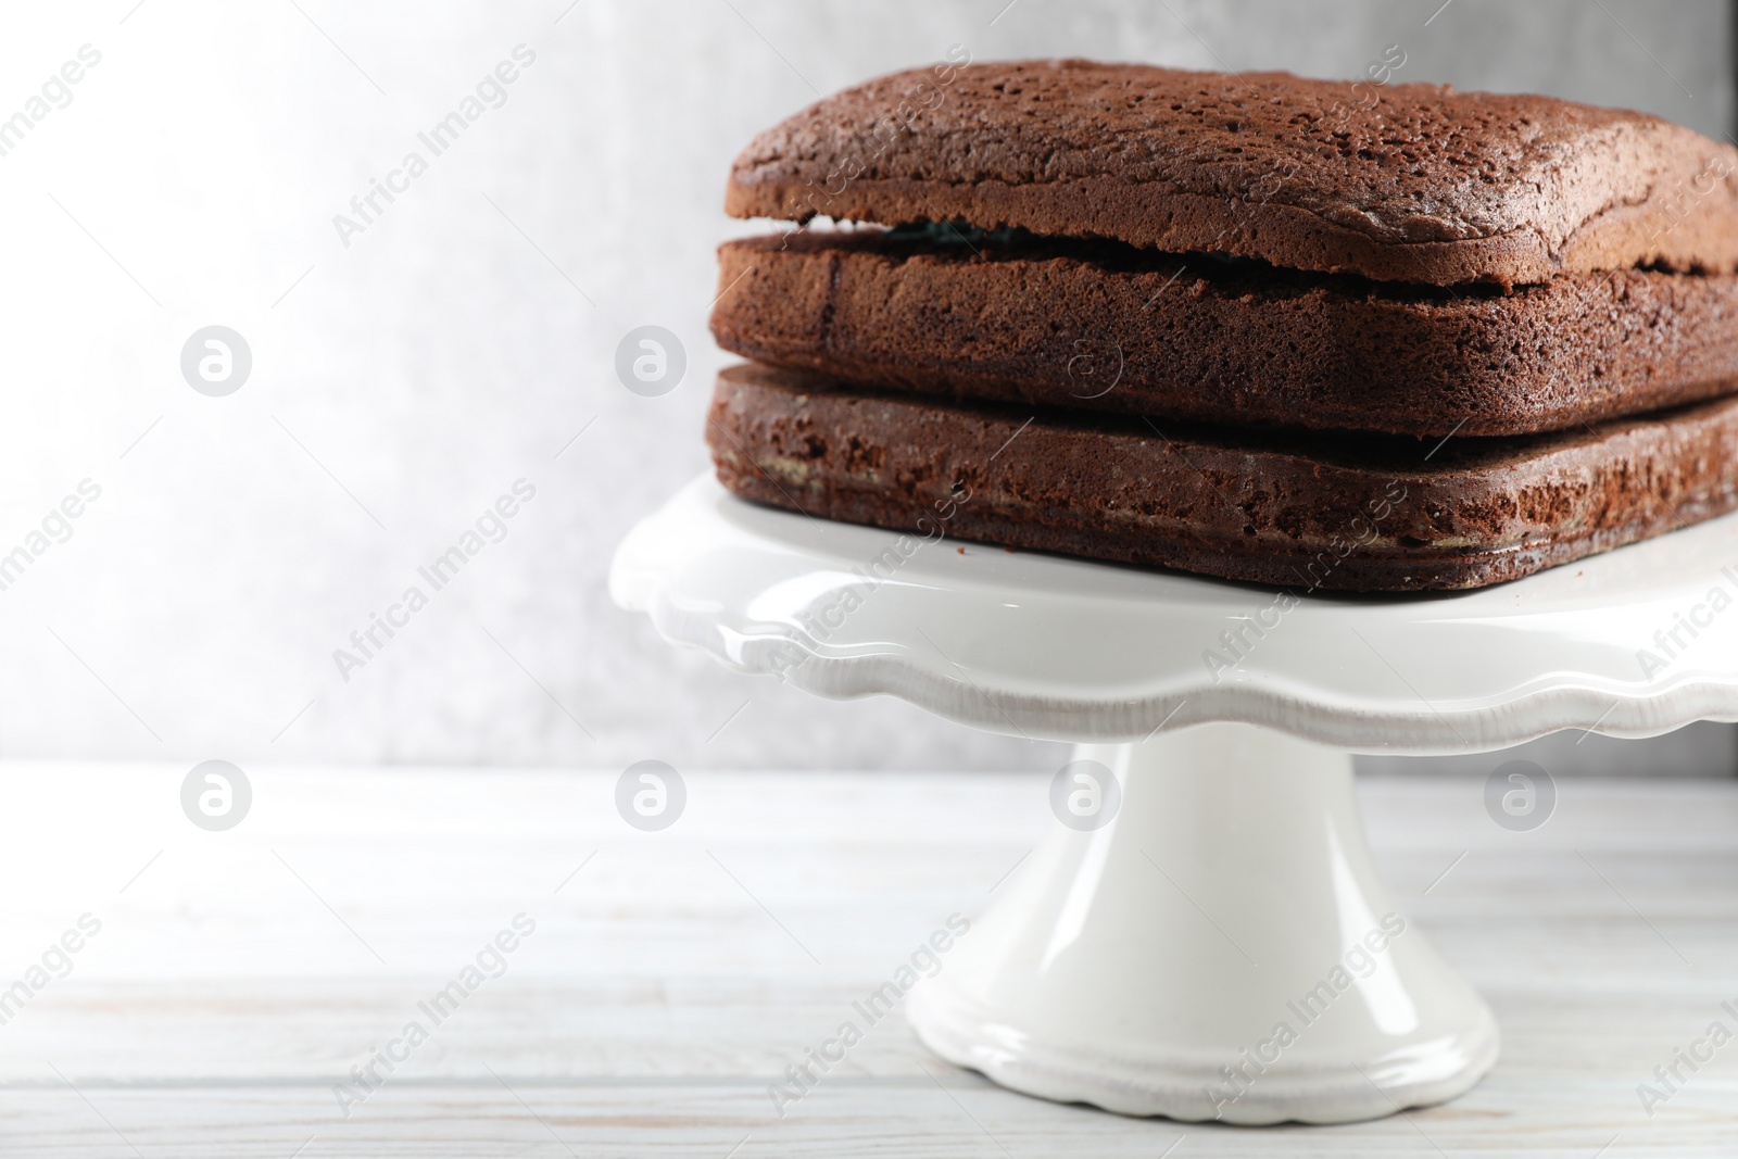
<svg viewBox="0 0 1738 1159">
<path fill-rule="evenodd" d="M 1726 3 L 1437 9 L 14 7 L 0 116 L 80 45 L 103 61 L 0 156 L 0 553 L 80 480 L 103 497 L 0 591 L 0 754 L 1055 766 L 1057 745 L 728 674 L 608 603 L 612 547 L 706 467 L 713 248 L 756 228 L 721 214 L 732 156 L 820 92 L 954 43 L 1321 76 L 1397 43 L 1396 80 L 1731 122 Z M 518 43 L 537 59 L 506 104 L 346 248 L 334 214 Z M 212 323 L 254 353 L 228 398 L 179 374 Z M 645 323 L 688 349 L 666 398 L 612 372 Z M 537 497 L 507 537 L 341 679 L 332 650 L 520 478 Z M 1642 763 L 1731 768 L 1729 730 L 1702 732 Z M 1569 765 L 1613 751 L 1554 744 Z"/>
</svg>

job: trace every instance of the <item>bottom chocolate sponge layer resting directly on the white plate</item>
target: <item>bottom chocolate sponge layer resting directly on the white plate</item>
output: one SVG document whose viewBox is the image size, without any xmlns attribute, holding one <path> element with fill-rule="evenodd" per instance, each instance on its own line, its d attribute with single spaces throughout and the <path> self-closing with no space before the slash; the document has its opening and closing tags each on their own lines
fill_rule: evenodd
<svg viewBox="0 0 1738 1159">
<path fill-rule="evenodd" d="M 1738 400 L 1425 462 L 1410 440 L 1231 441 L 746 365 L 718 377 L 707 441 L 758 502 L 1295 591 L 1481 587 L 1738 506 Z"/>
</svg>

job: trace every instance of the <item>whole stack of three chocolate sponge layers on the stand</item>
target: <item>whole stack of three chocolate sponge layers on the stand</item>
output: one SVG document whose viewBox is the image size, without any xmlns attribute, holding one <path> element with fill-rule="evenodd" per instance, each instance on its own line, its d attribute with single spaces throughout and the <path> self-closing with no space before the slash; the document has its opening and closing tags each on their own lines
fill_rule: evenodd
<svg viewBox="0 0 1738 1159">
<path fill-rule="evenodd" d="M 763 134 L 732 212 L 867 226 L 723 247 L 714 335 L 763 365 L 720 379 L 720 478 L 1356 591 L 1738 506 L 1738 151 L 1547 97 L 1350 90 L 980 64 Z"/>
</svg>

